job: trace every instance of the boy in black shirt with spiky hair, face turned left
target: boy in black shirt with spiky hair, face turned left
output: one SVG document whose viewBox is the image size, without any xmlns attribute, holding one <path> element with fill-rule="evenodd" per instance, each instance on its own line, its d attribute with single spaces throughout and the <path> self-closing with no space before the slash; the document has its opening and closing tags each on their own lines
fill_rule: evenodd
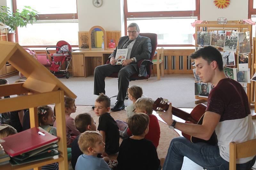
<svg viewBox="0 0 256 170">
<path fill-rule="evenodd" d="M 110 99 L 103 93 L 95 101 L 94 112 L 99 116 L 98 131 L 102 135 L 102 141 L 105 143 L 105 152 L 103 156 L 115 154 L 119 151 L 119 128 L 113 117 L 110 116 Z"/>
</svg>

